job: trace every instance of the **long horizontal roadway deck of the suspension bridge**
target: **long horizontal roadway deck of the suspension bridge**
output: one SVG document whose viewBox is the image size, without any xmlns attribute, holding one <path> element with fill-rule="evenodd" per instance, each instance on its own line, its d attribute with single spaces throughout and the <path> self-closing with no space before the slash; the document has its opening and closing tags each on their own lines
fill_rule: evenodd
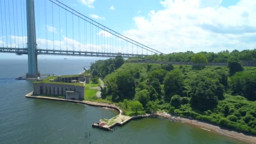
<svg viewBox="0 0 256 144">
<path fill-rule="evenodd" d="M 0 47 L 0 53 L 16 53 L 17 55 L 27 54 L 27 48 L 3 48 Z M 134 53 L 104 53 L 91 51 L 65 51 L 51 49 L 36 49 L 36 54 L 44 55 L 60 55 L 60 56 L 93 56 L 93 57 L 116 57 L 123 56 L 125 58 L 134 56 L 147 56 L 145 54 Z"/>
</svg>

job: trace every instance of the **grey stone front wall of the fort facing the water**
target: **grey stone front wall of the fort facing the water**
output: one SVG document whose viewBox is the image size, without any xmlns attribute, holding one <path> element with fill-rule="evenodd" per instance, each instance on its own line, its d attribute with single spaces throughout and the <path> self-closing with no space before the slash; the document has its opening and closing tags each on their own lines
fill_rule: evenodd
<svg viewBox="0 0 256 144">
<path fill-rule="evenodd" d="M 80 85 L 67 85 L 65 83 L 34 83 L 33 94 L 65 96 L 65 99 L 83 100 L 85 87 Z"/>
</svg>

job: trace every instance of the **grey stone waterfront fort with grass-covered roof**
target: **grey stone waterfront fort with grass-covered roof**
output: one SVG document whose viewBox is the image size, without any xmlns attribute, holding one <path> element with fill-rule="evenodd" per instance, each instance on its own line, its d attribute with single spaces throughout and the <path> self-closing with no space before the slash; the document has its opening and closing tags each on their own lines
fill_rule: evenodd
<svg viewBox="0 0 256 144">
<path fill-rule="evenodd" d="M 50 76 L 34 82 L 35 95 L 65 96 L 65 99 L 84 100 L 85 84 L 91 75 Z"/>
</svg>

